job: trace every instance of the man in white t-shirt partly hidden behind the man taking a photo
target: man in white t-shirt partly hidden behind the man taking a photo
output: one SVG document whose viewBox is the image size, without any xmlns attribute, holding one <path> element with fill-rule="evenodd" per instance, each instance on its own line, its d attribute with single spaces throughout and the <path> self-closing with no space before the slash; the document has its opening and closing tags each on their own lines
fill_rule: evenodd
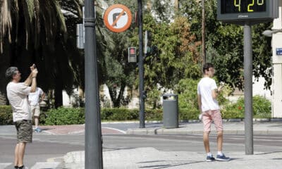
<svg viewBox="0 0 282 169">
<path fill-rule="evenodd" d="M 35 132 L 41 132 L 39 128 L 39 115 L 40 115 L 40 105 L 39 103 L 44 99 L 44 92 L 40 87 L 37 87 L 35 92 L 28 94 L 28 101 L 30 102 L 30 109 L 32 116 L 35 119 Z"/>
</svg>

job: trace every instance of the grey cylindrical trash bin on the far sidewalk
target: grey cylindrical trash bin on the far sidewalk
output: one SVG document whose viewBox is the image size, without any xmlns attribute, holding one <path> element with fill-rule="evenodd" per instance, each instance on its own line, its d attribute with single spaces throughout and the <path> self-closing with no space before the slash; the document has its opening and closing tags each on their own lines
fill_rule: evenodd
<svg viewBox="0 0 282 169">
<path fill-rule="evenodd" d="M 163 123 L 164 128 L 178 127 L 178 95 L 163 95 Z"/>
</svg>

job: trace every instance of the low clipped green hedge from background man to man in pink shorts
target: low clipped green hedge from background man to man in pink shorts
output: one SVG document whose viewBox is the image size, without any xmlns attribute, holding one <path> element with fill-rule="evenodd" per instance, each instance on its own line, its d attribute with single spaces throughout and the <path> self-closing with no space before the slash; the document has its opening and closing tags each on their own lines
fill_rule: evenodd
<svg viewBox="0 0 282 169">
<path fill-rule="evenodd" d="M 69 125 L 69 124 L 83 124 L 84 122 L 84 108 L 58 108 L 51 109 L 47 112 L 46 125 Z M 191 111 L 189 109 L 180 109 L 180 120 L 197 119 L 199 111 Z M 101 120 L 106 121 L 121 121 L 121 120 L 138 120 L 138 109 L 127 108 L 102 108 Z M 146 109 L 145 120 L 162 120 L 162 109 Z"/>
</svg>

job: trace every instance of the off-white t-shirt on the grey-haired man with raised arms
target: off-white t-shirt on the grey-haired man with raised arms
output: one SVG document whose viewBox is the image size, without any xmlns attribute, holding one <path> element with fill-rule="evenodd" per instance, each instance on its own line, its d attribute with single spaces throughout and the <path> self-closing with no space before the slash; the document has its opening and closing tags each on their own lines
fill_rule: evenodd
<svg viewBox="0 0 282 169">
<path fill-rule="evenodd" d="M 13 110 L 13 122 L 18 120 L 31 120 L 30 104 L 28 104 L 27 95 L 30 93 L 30 87 L 24 83 L 9 82 L 7 84 L 7 96 Z"/>
</svg>

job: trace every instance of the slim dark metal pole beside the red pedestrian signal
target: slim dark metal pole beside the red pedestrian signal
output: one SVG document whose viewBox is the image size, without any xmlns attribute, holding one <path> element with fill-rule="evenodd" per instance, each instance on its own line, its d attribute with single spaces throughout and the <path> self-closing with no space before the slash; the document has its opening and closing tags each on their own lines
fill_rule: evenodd
<svg viewBox="0 0 282 169">
<path fill-rule="evenodd" d="M 138 1 L 138 26 L 139 26 L 139 98 L 140 98 L 140 128 L 145 128 L 145 104 L 144 104 L 144 63 L 143 63 L 143 15 L 142 0 Z"/>
</svg>

